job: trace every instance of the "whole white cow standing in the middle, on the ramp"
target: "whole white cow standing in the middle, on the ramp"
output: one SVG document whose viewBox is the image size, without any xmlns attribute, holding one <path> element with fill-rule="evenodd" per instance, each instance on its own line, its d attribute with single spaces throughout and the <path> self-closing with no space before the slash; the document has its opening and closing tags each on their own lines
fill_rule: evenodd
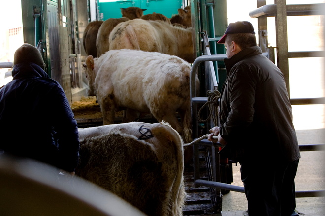
<svg viewBox="0 0 325 216">
<path fill-rule="evenodd" d="M 86 67 L 88 95 L 97 97 L 105 125 L 114 123 L 118 108 L 127 108 L 124 122 L 134 121 L 134 111 L 150 112 L 159 122 L 168 122 L 186 142 L 191 141 L 188 62 L 157 52 L 122 49 L 95 59 L 88 56 Z"/>
</svg>

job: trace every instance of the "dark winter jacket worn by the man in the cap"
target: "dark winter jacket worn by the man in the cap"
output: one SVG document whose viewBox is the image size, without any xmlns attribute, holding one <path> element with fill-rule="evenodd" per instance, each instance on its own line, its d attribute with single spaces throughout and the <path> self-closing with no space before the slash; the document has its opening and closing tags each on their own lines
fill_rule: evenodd
<svg viewBox="0 0 325 216">
<path fill-rule="evenodd" d="M 227 79 L 220 99 L 221 154 L 235 161 L 295 161 L 300 158 L 282 72 L 260 47 L 224 59 Z"/>
</svg>

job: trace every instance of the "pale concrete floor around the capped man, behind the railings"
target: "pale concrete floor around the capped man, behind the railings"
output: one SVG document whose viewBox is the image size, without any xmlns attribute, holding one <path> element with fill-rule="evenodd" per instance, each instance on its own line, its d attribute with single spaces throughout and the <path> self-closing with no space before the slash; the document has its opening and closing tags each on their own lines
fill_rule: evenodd
<svg viewBox="0 0 325 216">
<path fill-rule="evenodd" d="M 299 144 L 325 143 L 325 129 L 297 130 Z M 301 152 L 295 178 L 296 191 L 325 189 L 325 152 Z M 232 185 L 243 186 L 240 166 L 233 164 Z M 301 216 L 325 216 L 325 197 L 296 198 L 296 211 Z M 222 216 L 248 216 L 244 193 L 230 191 L 223 196 Z"/>
</svg>

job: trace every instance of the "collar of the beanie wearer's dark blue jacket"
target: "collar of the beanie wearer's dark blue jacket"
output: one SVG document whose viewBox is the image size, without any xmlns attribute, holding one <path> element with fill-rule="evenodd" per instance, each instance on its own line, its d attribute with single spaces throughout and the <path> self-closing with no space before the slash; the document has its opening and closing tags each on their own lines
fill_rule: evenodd
<svg viewBox="0 0 325 216">
<path fill-rule="evenodd" d="M 47 73 L 40 66 L 32 62 L 15 64 L 12 69 L 12 77 L 13 80 L 32 77 L 50 79 Z"/>
</svg>

